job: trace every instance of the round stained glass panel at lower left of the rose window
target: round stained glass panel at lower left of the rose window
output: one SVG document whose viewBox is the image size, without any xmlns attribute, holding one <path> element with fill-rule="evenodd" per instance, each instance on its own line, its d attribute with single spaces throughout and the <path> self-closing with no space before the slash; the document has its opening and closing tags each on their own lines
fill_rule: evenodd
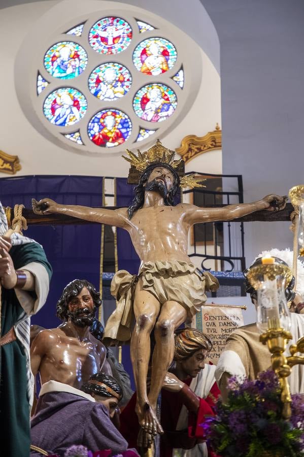
<svg viewBox="0 0 304 457">
<path fill-rule="evenodd" d="M 51 92 L 43 105 L 45 117 L 54 125 L 73 125 L 87 110 L 85 96 L 72 87 L 62 87 Z"/>
</svg>

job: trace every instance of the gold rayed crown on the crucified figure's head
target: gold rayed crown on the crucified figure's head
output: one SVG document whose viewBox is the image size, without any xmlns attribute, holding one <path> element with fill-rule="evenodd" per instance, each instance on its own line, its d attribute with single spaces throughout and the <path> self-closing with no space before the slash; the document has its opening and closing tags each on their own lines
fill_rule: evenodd
<svg viewBox="0 0 304 457">
<path fill-rule="evenodd" d="M 138 184 L 141 174 L 147 167 L 153 163 L 164 164 L 172 167 L 180 178 L 180 187 L 206 187 L 200 184 L 201 181 L 206 181 L 204 178 L 194 177 L 194 174 L 185 175 L 185 162 L 183 159 L 175 160 L 175 151 L 165 148 L 160 140 L 157 140 L 154 146 L 145 152 L 137 150 L 138 155 L 126 149 L 128 157 L 122 156 L 130 164 L 128 183 Z"/>
</svg>

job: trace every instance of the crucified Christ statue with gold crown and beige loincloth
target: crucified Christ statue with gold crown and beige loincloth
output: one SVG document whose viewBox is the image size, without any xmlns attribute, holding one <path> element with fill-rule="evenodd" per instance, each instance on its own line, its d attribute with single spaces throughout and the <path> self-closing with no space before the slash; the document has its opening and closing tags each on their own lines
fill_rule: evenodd
<svg viewBox="0 0 304 457">
<path fill-rule="evenodd" d="M 267 195 L 258 202 L 224 208 L 199 208 L 185 203 L 173 206 L 179 186 L 197 185 L 193 178 L 179 176 L 181 160 L 174 160 L 174 151 L 164 148 L 158 140 L 146 153 L 139 152 L 139 156 L 136 156 L 128 151 L 128 154 L 130 158 L 127 160 L 131 162 L 133 170 L 142 172 L 129 208 L 109 210 L 67 206 L 43 199 L 40 202 L 33 201 L 33 210 L 37 214 L 61 213 L 110 224 L 124 228 L 130 234 L 142 262 L 136 289 L 134 293 L 129 293 L 127 272 L 116 274 L 112 289 L 118 299 L 125 295 L 133 298 L 131 307 L 136 325 L 131 338 L 131 360 L 138 394 L 137 414 L 143 429 L 156 434 L 162 433 L 155 410 L 163 379 L 173 360 L 174 330 L 187 317 L 195 315 L 205 303 L 206 283 L 209 288 L 216 289 L 218 286 L 216 278 L 200 275 L 191 263 L 187 255 L 189 228 L 196 223 L 231 220 L 258 210 L 283 209 L 286 198 Z M 271 206 L 274 202 L 276 208 Z M 124 321 L 130 323 L 125 318 L 125 312 L 122 323 Z M 110 329 L 107 325 L 111 335 L 112 324 Z M 152 358 L 151 388 L 147 395 L 152 329 L 156 344 Z"/>
</svg>

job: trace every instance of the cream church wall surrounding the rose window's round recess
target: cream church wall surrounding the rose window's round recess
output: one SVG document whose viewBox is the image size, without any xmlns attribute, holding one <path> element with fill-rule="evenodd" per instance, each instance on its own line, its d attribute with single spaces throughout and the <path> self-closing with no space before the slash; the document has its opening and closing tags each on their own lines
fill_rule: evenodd
<svg viewBox="0 0 304 457">
<path fill-rule="evenodd" d="M 62 4 L 63 12 L 65 3 L 60 3 Z M 91 3 L 92 5 L 97 5 L 98 8 L 99 4 L 100 7 L 102 6 L 101 2 Z M 159 6 L 160 2 L 156 3 Z M 200 5 L 199 2 L 196 3 Z M 48 0 L 19 5 L 1 11 L 0 40 L 1 42 L 6 42 L 3 55 L 6 71 L 0 75 L 0 84 L 1 87 L 5 88 L 3 91 L 3 106 L 6 106 L 6 115 L 2 117 L 0 124 L 0 149 L 9 154 L 17 154 L 19 156 L 22 166 L 22 170 L 18 172 L 20 176 L 31 174 L 126 176 L 128 164 L 120 158 L 120 154 L 118 156 L 116 154 L 113 159 L 109 159 L 109 151 L 107 151 L 107 155 L 100 153 L 100 155 L 96 154 L 96 156 L 91 155 L 89 157 L 85 154 L 67 151 L 60 147 L 60 144 L 50 141 L 42 133 L 39 133 L 20 109 L 18 94 L 21 92 L 22 96 L 26 96 L 29 87 L 26 83 L 22 87 L 21 83 L 20 88 L 20 82 L 23 82 L 23 74 L 22 69 L 18 68 L 16 58 L 18 58 L 20 48 L 23 49 L 24 40 L 27 39 L 31 30 L 36 27 L 37 21 L 44 14 L 49 14 L 49 11 L 56 7 L 57 4 L 58 2 Z M 155 13 L 159 13 L 157 8 L 155 8 Z M 170 20 L 168 17 L 166 19 Z M 11 40 L 7 40 L 6 37 L 10 36 L 12 27 L 18 30 L 18 34 L 14 34 Z M 50 37 L 52 36 L 51 29 L 47 33 L 50 33 Z M 39 40 L 39 36 L 37 40 Z M 51 40 L 52 38 L 50 38 L 50 44 Z M 202 62 L 202 78 L 196 99 L 193 103 L 191 102 L 190 109 L 181 123 L 161 138 L 163 143 L 172 149 L 180 146 L 184 136 L 189 134 L 205 135 L 209 130 L 215 128 L 217 122 L 221 124 L 220 77 L 204 50 L 197 49 L 200 54 L 198 60 L 201 59 Z M 28 49 L 29 54 L 33 51 Z M 17 73 L 16 69 L 18 70 Z M 29 70 L 31 71 L 32 69 Z M 27 69 L 25 69 L 26 71 Z M 26 82 L 26 78 L 24 78 L 24 81 Z M 35 80 L 32 80 L 31 83 L 35 84 Z M 27 84 L 30 84 L 30 82 Z M 18 86 L 18 91 L 16 91 L 16 86 Z M 43 116 L 42 113 L 41 116 Z M 152 140 L 152 143 L 154 141 Z M 138 143 L 134 147 L 140 146 L 141 144 Z M 207 173 L 221 173 L 221 154 L 217 151 L 216 164 L 213 155 L 212 153 L 210 155 L 205 154 L 196 159 L 196 170 L 202 170 Z M 6 175 L 1 174 L 0 176 Z"/>
</svg>

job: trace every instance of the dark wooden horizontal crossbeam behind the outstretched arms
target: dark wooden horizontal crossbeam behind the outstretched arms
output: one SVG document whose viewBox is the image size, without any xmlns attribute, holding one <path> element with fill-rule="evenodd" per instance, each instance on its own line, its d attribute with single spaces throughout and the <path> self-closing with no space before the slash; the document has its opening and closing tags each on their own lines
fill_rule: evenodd
<svg viewBox="0 0 304 457">
<path fill-rule="evenodd" d="M 223 207 L 225 205 L 210 205 L 210 207 Z M 109 207 L 106 209 L 117 209 L 118 207 Z M 277 222 L 290 221 L 290 214 L 293 211 L 291 203 L 287 203 L 286 208 L 282 211 L 256 211 L 247 216 L 233 219 L 231 222 Z M 44 216 L 33 213 L 31 209 L 24 208 L 22 212 L 28 225 L 69 225 L 69 224 L 95 224 L 98 222 L 88 222 L 63 214 L 46 214 Z M 13 217 L 13 214 L 12 214 Z"/>
</svg>

